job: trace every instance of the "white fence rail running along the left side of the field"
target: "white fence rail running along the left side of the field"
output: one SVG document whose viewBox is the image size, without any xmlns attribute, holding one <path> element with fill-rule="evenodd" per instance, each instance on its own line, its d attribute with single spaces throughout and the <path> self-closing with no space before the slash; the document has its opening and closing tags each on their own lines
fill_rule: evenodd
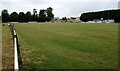
<svg viewBox="0 0 120 71">
<path fill-rule="evenodd" d="M 22 59 L 20 55 L 19 42 L 17 38 L 16 30 L 14 29 L 14 24 L 8 24 L 14 41 L 14 71 L 20 70 L 20 65 L 22 64 Z"/>
</svg>

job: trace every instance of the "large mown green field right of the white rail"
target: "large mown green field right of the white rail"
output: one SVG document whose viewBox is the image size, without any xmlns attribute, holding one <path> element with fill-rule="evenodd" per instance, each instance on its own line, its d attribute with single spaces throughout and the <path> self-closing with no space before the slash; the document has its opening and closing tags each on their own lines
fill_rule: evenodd
<svg viewBox="0 0 120 71">
<path fill-rule="evenodd" d="M 22 68 L 115 69 L 118 24 L 15 24 Z"/>
</svg>

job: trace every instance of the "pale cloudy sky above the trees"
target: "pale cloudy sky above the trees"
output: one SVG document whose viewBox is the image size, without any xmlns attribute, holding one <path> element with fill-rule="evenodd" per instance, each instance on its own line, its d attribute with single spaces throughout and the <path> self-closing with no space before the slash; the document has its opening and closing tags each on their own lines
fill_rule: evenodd
<svg viewBox="0 0 120 71">
<path fill-rule="evenodd" d="M 0 12 L 37 11 L 52 7 L 55 17 L 77 17 L 84 12 L 118 9 L 120 0 L 0 0 Z"/>
</svg>

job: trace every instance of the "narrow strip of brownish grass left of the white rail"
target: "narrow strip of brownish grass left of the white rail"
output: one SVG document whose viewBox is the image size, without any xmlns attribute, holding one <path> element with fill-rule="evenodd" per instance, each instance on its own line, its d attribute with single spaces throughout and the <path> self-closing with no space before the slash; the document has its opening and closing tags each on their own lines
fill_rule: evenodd
<svg viewBox="0 0 120 71">
<path fill-rule="evenodd" d="M 5 24 L 5 23 L 4 23 Z M 13 71 L 14 66 L 13 40 L 7 24 L 2 26 L 2 69 Z"/>
</svg>

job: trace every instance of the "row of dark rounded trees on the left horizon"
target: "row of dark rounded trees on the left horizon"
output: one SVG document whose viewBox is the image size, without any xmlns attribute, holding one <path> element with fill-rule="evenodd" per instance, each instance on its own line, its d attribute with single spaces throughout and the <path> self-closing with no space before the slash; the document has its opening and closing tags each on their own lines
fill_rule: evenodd
<svg viewBox="0 0 120 71">
<path fill-rule="evenodd" d="M 33 9 L 33 14 L 28 11 L 27 13 L 24 12 L 12 12 L 11 14 L 8 13 L 8 10 L 2 10 L 2 22 L 29 22 L 29 21 L 36 21 L 36 22 L 49 22 L 54 18 L 54 14 L 52 13 L 53 8 L 49 7 L 47 9 L 41 9 L 39 13 L 37 13 L 36 9 Z"/>
</svg>

